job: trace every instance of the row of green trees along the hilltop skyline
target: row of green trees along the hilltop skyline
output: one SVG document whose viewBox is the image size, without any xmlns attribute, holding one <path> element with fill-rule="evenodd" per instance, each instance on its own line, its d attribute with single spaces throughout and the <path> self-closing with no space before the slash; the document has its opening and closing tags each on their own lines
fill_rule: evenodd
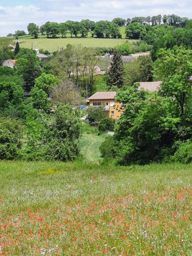
<svg viewBox="0 0 192 256">
<path fill-rule="evenodd" d="M 27 26 L 28 33 L 32 35 L 34 38 L 38 38 L 38 34 L 42 35 L 46 33 L 47 37 L 55 38 L 57 35 L 61 35 L 62 37 L 66 37 L 69 32 L 72 36 L 77 37 L 78 34 L 81 37 L 88 36 L 88 32 L 91 31 L 91 35 L 96 36 L 98 38 L 103 37 L 112 37 L 112 38 L 121 38 L 122 35 L 120 33 L 119 28 L 122 26 L 127 26 L 130 24 L 138 23 L 140 25 L 149 25 L 149 26 L 157 26 L 157 25 L 169 25 L 173 27 L 185 27 L 189 18 L 180 17 L 178 15 L 155 15 L 155 16 L 147 16 L 147 17 L 133 17 L 123 19 L 120 17 L 114 18 L 112 22 L 109 20 L 100 20 L 98 22 L 94 22 L 93 20 L 83 19 L 81 22 L 67 20 L 67 22 L 56 23 L 56 22 L 47 22 L 45 25 L 37 26 L 34 23 L 30 23 Z M 17 30 L 14 34 L 9 33 L 7 36 L 23 36 L 26 35 L 24 30 Z"/>
</svg>

